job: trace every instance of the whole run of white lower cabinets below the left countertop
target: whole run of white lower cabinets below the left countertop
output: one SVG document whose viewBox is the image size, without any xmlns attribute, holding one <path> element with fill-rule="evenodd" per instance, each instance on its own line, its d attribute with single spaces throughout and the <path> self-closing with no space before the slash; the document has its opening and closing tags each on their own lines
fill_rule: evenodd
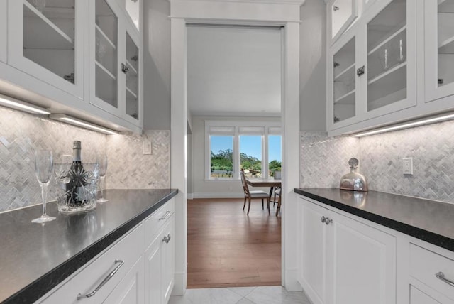
<svg viewBox="0 0 454 304">
<path fill-rule="evenodd" d="M 174 210 L 171 199 L 36 303 L 167 304 L 174 286 Z"/>
</svg>

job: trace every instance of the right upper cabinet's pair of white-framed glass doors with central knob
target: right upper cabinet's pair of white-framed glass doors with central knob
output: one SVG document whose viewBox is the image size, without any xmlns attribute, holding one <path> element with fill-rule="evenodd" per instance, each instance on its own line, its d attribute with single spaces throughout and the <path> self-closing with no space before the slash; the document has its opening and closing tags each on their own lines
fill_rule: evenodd
<svg viewBox="0 0 454 304">
<path fill-rule="evenodd" d="M 415 106 L 415 2 L 377 1 L 365 11 L 329 50 L 328 84 L 328 131 Z"/>
</svg>

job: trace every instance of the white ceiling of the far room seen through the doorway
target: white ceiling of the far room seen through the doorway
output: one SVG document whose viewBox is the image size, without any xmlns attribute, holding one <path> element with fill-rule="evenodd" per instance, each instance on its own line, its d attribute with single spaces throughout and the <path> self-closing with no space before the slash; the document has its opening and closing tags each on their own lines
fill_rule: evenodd
<svg viewBox="0 0 454 304">
<path fill-rule="evenodd" d="M 280 116 L 279 28 L 188 26 L 187 100 L 193 116 Z"/>
</svg>

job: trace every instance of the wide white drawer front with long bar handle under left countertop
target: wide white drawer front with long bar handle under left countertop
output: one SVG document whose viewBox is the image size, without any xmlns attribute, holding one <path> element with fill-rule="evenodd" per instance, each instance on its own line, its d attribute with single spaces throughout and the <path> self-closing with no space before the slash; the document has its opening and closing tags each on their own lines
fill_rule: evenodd
<svg viewBox="0 0 454 304">
<path fill-rule="evenodd" d="M 114 291 L 114 288 L 121 279 L 126 276 L 126 273 L 135 264 L 140 254 L 143 253 L 144 234 L 143 224 L 140 224 L 131 233 L 126 235 L 126 237 L 123 237 L 123 239 L 104 252 L 104 254 L 95 258 L 82 271 L 75 273 L 69 281 L 63 283 L 60 288 L 57 288 L 42 303 L 102 303 Z M 121 261 L 123 261 L 123 264 L 121 264 Z M 116 268 L 118 268 L 118 271 L 94 295 L 89 298 L 82 297 L 77 300 L 79 294 L 87 295 L 92 293 L 100 286 L 104 278 L 113 273 Z"/>
</svg>

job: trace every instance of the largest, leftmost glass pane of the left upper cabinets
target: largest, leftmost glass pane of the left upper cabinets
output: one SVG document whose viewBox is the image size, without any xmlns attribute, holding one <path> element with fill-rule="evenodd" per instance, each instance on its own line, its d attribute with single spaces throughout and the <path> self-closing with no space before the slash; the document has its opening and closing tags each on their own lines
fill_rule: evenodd
<svg viewBox="0 0 454 304">
<path fill-rule="evenodd" d="M 74 0 L 23 1 L 23 56 L 74 83 Z"/>
</svg>

